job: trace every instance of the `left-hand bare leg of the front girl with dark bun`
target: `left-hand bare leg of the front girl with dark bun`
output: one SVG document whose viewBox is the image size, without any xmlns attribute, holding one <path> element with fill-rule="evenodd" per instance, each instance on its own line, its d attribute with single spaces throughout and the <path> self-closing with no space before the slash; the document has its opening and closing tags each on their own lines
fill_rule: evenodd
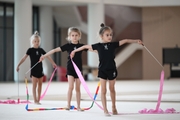
<svg viewBox="0 0 180 120">
<path fill-rule="evenodd" d="M 109 114 L 108 110 L 107 110 L 107 101 L 106 101 L 106 83 L 107 83 L 107 80 L 104 80 L 102 78 L 100 78 L 100 82 L 101 82 L 101 101 L 102 101 L 102 105 L 103 105 L 103 108 L 104 108 L 104 113 L 105 114 Z"/>
</svg>

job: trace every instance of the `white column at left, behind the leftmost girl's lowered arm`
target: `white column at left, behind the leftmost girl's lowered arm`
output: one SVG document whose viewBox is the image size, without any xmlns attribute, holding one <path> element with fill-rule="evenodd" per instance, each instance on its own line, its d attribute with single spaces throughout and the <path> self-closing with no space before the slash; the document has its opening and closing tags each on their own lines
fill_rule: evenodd
<svg viewBox="0 0 180 120">
<path fill-rule="evenodd" d="M 20 66 L 19 73 L 16 72 L 16 67 L 30 47 L 30 37 L 32 35 L 31 0 L 15 0 L 14 23 L 14 81 L 24 81 L 25 76 L 29 77 L 29 74 L 25 75 L 30 69 L 29 58 Z"/>
</svg>

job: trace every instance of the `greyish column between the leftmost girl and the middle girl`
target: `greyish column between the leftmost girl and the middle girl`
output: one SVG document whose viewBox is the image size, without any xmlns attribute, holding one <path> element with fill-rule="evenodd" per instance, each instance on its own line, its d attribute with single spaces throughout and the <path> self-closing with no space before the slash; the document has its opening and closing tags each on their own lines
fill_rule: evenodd
<svg viewBox="0 0 180 120">
<path fill-rule="evenodd" d="M 47 6 L 40 7 L 40 37 L 41 47 L 46 51 L 53 49 L 53 15 L 52 8 Z M 57 54 L 57 53 L 55 53 Z M 52 58 L 53 55 L 50 57 Z M 53 58 L 52 58 L 53 59 Z M 48 59 L 43 61 L 44 74 L 49 79 L 52 74 L 52 64 Z"/>
</svg>

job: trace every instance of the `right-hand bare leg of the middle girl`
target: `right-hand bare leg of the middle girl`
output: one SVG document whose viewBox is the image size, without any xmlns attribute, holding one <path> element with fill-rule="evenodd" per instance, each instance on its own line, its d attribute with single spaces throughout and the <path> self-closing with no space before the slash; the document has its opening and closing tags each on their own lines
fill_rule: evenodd
<svg viewBox="0 0 180 120">
<path fill-rule="evenodd" d="M 77 108 L 79 111 L 83 111 L 80 107 L 81 102 L 81 90 L 80 90 L 81 82 L 79 79 L 76 79 L 76 100 L 77 100 Z"/>
</svg>

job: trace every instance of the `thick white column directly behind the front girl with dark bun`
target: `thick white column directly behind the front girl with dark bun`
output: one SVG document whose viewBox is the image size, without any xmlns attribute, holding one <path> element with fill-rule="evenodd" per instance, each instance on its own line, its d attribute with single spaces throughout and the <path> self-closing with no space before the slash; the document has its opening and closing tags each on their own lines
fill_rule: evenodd
<svg viewBox="0 0 180 120">
<path fill-rule="evenodd" d="M 104 4 L 102 1 L 97 4 L 88 4 L 88 44 L 101 42 L 99 38 L 100 24 L 104 23 Z M 97 53 L 88 52 L 88 65 L 97 68 L 99 58 Z M 91 74 L 88 75 L 88 80 L 97 79 Z"/>
</svg>

